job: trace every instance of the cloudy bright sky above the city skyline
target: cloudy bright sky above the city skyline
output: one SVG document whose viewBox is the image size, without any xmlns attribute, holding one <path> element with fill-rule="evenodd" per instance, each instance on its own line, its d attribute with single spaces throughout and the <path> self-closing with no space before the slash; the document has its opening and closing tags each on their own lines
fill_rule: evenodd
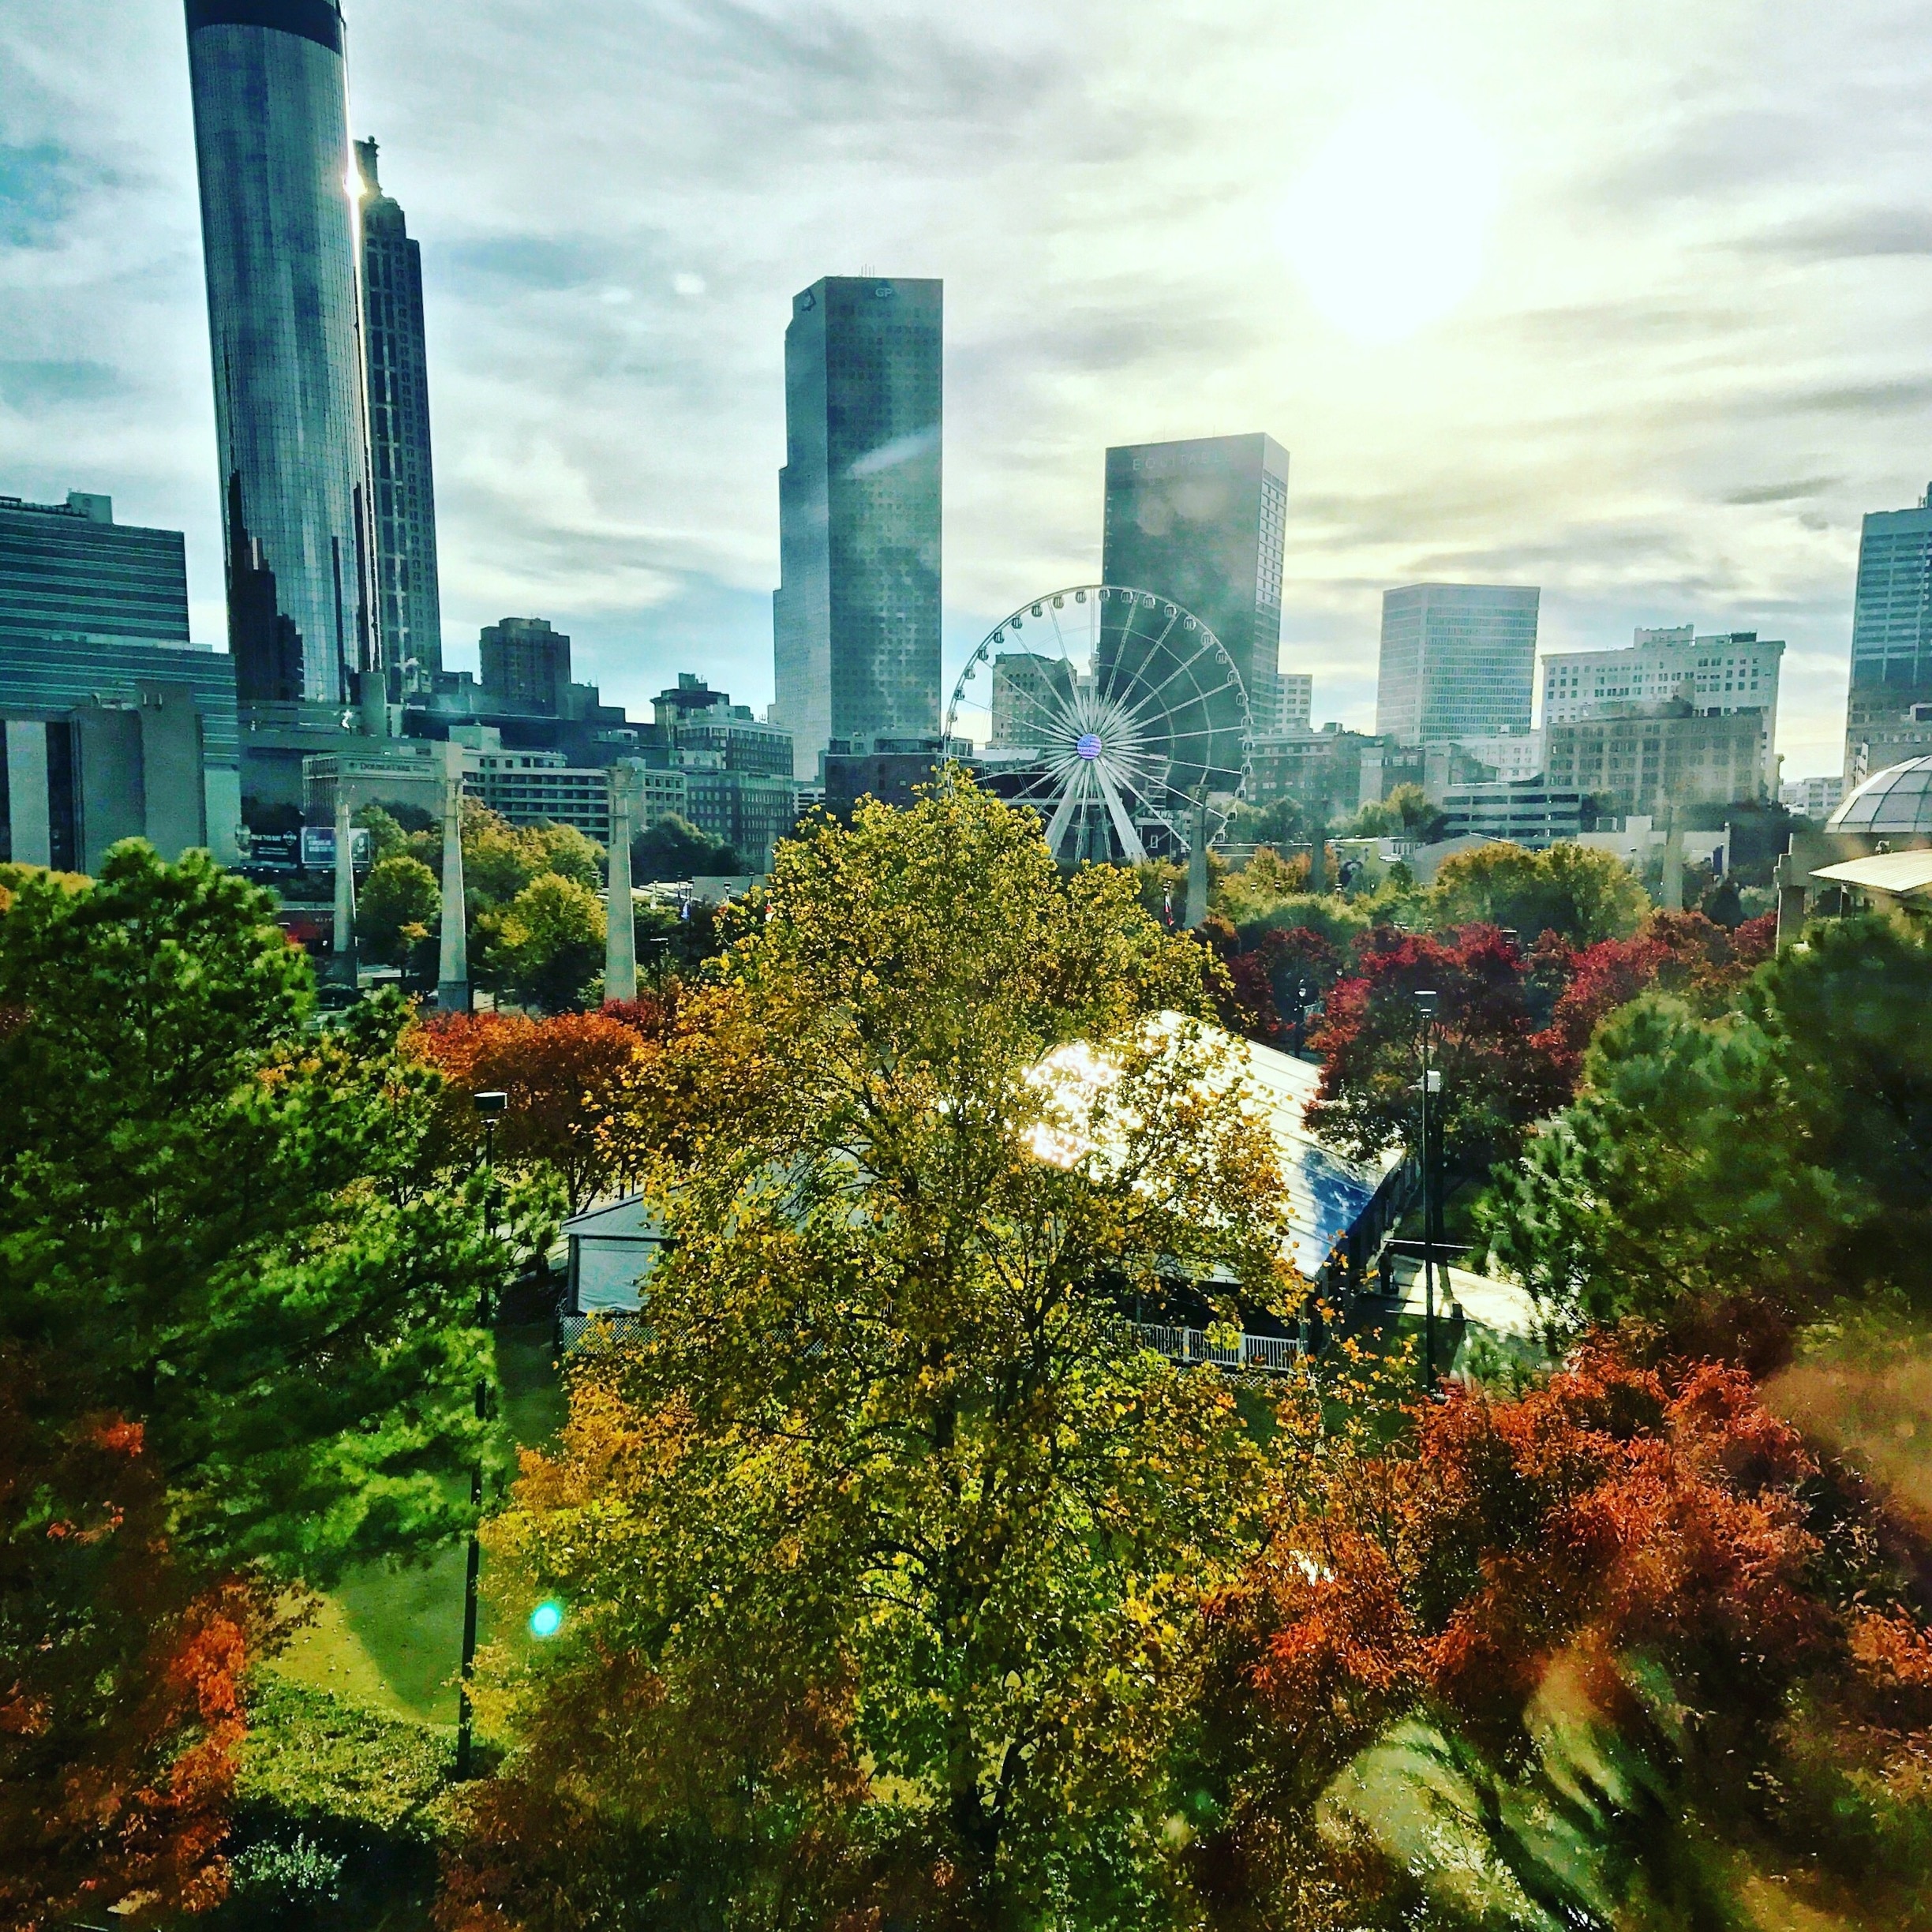
<svg viewBox="0 0 1932 1932">
<path fill-rule="evenodd" d="M 1544 649 L 1789 641 L 1837 771 L 1859 518 L 1932 479 L 1932 39 L 1903 0 L 346 0 L 423 247 L 444 659 L 549 616 L 771 696 L 784 323 L 943 276 L 945 684 L 1097 582 L 1113 442 L 1291 452 L 1285 670 L 1381 591 Z M 0 493 L 187 531 L 224 636 L 180 0 L 0 6 Z"/>
</svg>

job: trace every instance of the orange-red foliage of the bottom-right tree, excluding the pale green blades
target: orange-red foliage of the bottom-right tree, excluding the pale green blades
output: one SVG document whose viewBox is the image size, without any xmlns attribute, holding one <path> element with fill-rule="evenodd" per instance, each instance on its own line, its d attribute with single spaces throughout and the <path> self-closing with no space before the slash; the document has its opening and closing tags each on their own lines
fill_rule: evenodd
<svg viewBox="0 0 1932 1932">
<path fill-rule="evenodd" d="M 1323 1795 L 1416 1721 L 1524 1776 L 1538 1706 L 1586 1714 L 1600 1760 L 1669 1760 L 1629 1864 L 1694 1814 L 1895 1909 L 1932 1822 L 1932 1636 L 1872 1555 L 1870 1505 L 1826 1476 L 1743 1370 L 1602 1339 L 1522 1397 L 1451 1389 L 1397 1445 L 1325 1455 L 1215 1611 L 1192 1866 L 1217 1922 L 1410 1922 L 1401 1862 L 1323 1830 Z M 1607 1779 L 1590 1855 L 1640 1785 Z"/>
</svg>

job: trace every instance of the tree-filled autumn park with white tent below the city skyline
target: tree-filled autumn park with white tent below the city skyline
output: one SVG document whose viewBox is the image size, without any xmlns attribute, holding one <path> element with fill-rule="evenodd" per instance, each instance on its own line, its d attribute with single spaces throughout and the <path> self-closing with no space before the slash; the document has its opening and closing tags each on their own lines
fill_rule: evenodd
<svg viewBox="0 0 1932 1932">
<path fill-rule="evenodd" d="M 1920 929 L 997 790 L 0 875 L 4 1922 L 1928 1922 Z"/>
</svg>

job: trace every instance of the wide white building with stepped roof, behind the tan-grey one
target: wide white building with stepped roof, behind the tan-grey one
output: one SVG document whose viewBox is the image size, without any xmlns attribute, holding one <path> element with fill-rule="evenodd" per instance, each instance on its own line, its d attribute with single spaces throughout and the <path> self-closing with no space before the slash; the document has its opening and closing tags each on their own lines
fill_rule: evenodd
<svg viewBox="0 0 1932 1932">
<path fill-rule="evenodd" d="M 1754 630 L 1698 638 L 1694 626 L 1638 628 L 1625 651 L 1557 651 L 1544 659 L 1544 726 L 1629 715 L 1683 701 L 1702 717 L 1756 711 L 1764 782 L 1777 782 L 1777 668 L 1781 638 Z"/>
</svg>

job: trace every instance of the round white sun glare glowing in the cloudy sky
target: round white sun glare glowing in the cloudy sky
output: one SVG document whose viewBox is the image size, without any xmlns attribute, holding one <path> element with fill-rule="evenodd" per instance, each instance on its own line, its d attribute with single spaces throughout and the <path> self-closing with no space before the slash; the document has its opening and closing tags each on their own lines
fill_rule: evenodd
<svg viewBox="0 0 1932 1932">
<path fill-rule="evenodd" d="M 1281 211 L 1314 305 L 1358 342 L 1399 342 L 1476 286 L 1497 201 L 1495 149 L 1426 95 L 1356 108 Z"/>
</svg>

